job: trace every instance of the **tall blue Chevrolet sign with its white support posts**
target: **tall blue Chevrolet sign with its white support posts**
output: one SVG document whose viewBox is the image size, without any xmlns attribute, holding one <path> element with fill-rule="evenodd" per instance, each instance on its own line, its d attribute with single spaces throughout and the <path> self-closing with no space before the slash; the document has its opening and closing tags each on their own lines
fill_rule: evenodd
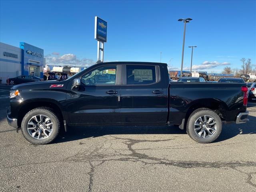
<svg viewBox="0 0 256 192">
<path fill-rule="evenodd" d="M 95 17 L 94 38 L 98 41 L 97 62 L 103 62 L 104 42 L 107 42 L 107 22 Z"/>
</svg>

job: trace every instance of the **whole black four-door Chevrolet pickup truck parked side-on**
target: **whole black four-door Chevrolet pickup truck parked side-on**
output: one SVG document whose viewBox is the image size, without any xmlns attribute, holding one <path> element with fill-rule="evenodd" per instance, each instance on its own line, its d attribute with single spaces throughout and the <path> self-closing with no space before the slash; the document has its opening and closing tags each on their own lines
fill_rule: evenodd
<svg viewBox="0 0 256 192">
<path fill-rule="evenodd" d="M 170 82 L 163 63 L 105 62 L 67 80 L 13 86 L 7 120 L 33 144 L 92 125 L 178 125 L 209 143 L 222 123 L 248 121 L 247 91 L 241 83 Z"/>
</svg>

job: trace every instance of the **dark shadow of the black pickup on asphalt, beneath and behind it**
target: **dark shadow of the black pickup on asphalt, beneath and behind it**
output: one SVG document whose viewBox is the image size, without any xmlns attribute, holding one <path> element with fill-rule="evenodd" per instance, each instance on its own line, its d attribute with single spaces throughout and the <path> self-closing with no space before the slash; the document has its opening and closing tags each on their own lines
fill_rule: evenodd
<svg viewBox="0 0 256 192">
<path fill-rule="evenodd" d="M 224 124 L 222 133 L 214 142 L 233 138 L 239 134 L 256 134 L 256 117 L 248 116 L 249 122 L 245 124 Z M 129 135 L 129 134 L 186 134 L 178 126 L 88 126 L 68 127 L 68 132 L 60 133 L 54 143 L 68 142 L 85 138 L 96 138 L 104 135 Z"/>
</svg>

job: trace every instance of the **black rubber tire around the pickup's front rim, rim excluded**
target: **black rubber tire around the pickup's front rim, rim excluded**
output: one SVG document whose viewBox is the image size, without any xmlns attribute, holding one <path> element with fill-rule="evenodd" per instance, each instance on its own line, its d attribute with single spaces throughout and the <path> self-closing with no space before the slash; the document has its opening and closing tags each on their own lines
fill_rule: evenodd
<svg viewBox="0 0 256 192">
<path fill-rule="evenodd" d="M 43 138 L 43 139 L 36 139 L 33 138 L 30 133 L 28 132 L 27 126 L 29 120 L 36 115 L 45 115 L 50 118 L 51 122 L 53 123 L 52 125 L 52 133 L 48 136 L 48 138 Z M 37 144 L 37 145 L 42 145 L 42 144 L 48 144 L 52 142 L 59 134 L 60 131 L 60 120 L 58 116 L 50 109 L 47 107 L 38 107 L 35 108 L 31 111 L 29 111 L 23 118 L 22 123 L 21 123 L 21 131 L 23 136 L 32 144 Z"/>
</svg>

